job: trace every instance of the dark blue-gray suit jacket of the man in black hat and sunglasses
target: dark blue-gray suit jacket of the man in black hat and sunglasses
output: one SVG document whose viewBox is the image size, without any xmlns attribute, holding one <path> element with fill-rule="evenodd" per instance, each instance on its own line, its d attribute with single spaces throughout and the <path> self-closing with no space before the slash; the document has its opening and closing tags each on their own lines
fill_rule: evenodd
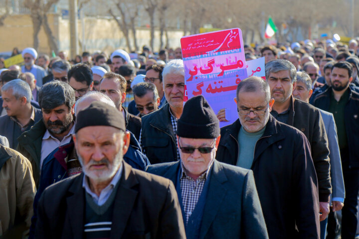
<svg viewBox="0 0 359 239">
<path fill-rule="evenodd" d="M 179 170 L 180 161 L 147 168 L 175 185 Z M 214 160 L 209 180 L 199 239 L 268 238 L 251 170 Z"/>
</svg>

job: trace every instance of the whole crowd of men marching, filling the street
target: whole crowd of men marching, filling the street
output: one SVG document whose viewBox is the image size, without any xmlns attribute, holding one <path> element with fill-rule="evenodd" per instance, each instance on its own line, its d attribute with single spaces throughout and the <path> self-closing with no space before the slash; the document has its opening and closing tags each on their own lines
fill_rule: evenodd
<svg viewBox="0 0 359 239">
<path fill-rule="evenodd" d="M 220 128 L 183 104 L 180 48 L 23 49 L 0 69 L 0 238 L 356 238 L 358 41 L 244 50 L 266 79 Z"/>
</svg>

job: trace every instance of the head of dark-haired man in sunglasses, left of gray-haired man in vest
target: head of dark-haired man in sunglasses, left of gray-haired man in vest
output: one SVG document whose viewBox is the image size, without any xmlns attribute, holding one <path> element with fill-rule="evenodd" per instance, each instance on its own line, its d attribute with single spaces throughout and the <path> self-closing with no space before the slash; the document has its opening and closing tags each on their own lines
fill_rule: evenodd
<svg viewBox="0 0 359 239">
<path fill-rule="evenodd" d="M 137 116 L 143 117 L 157 111 L 160 105 L 160 97 L 156 86 L 152 83 L 141 82 L 133 88 L 136 109 L 140 112 Z"/>
</svg>

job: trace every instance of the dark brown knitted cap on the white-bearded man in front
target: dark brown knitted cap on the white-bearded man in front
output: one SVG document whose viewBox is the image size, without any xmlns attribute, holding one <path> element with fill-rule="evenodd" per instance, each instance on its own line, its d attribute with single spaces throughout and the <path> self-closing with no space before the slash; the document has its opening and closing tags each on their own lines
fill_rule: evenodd
<svg viewBox="0 0 359 239">
<path fill-rule="evenodd" d="M 95 101 L 76 116 L 75 132 L 88 126 L 112 126 L 126 131 L 125 118 L 115 107 Z"/>
</svg>

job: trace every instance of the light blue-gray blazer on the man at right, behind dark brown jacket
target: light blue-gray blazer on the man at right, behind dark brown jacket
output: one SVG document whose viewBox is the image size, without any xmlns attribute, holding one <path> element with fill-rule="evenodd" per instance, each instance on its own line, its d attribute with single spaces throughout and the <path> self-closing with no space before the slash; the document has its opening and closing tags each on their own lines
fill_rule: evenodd
<svg viewBox="0 0 359 239">
<path fill-rule="evenodd" d="M 332 200 L 333 198 L 345 198 L 345 188 L 344 188 L 344 179 L 342 171 L 342 161 L 340 157 L 339 145 L 338 145 L 338 135 L 337 135 L 337 126 L 334 121 L 332 113 L 323 111 L 319 109 L 325 129 L 328 136 L 328 147 L 330 150 L 329 159 L 331 164 L 331 177 L 332 177 Z M 335 200 L 337 201 L 337 200 Z"/>
</svg>

